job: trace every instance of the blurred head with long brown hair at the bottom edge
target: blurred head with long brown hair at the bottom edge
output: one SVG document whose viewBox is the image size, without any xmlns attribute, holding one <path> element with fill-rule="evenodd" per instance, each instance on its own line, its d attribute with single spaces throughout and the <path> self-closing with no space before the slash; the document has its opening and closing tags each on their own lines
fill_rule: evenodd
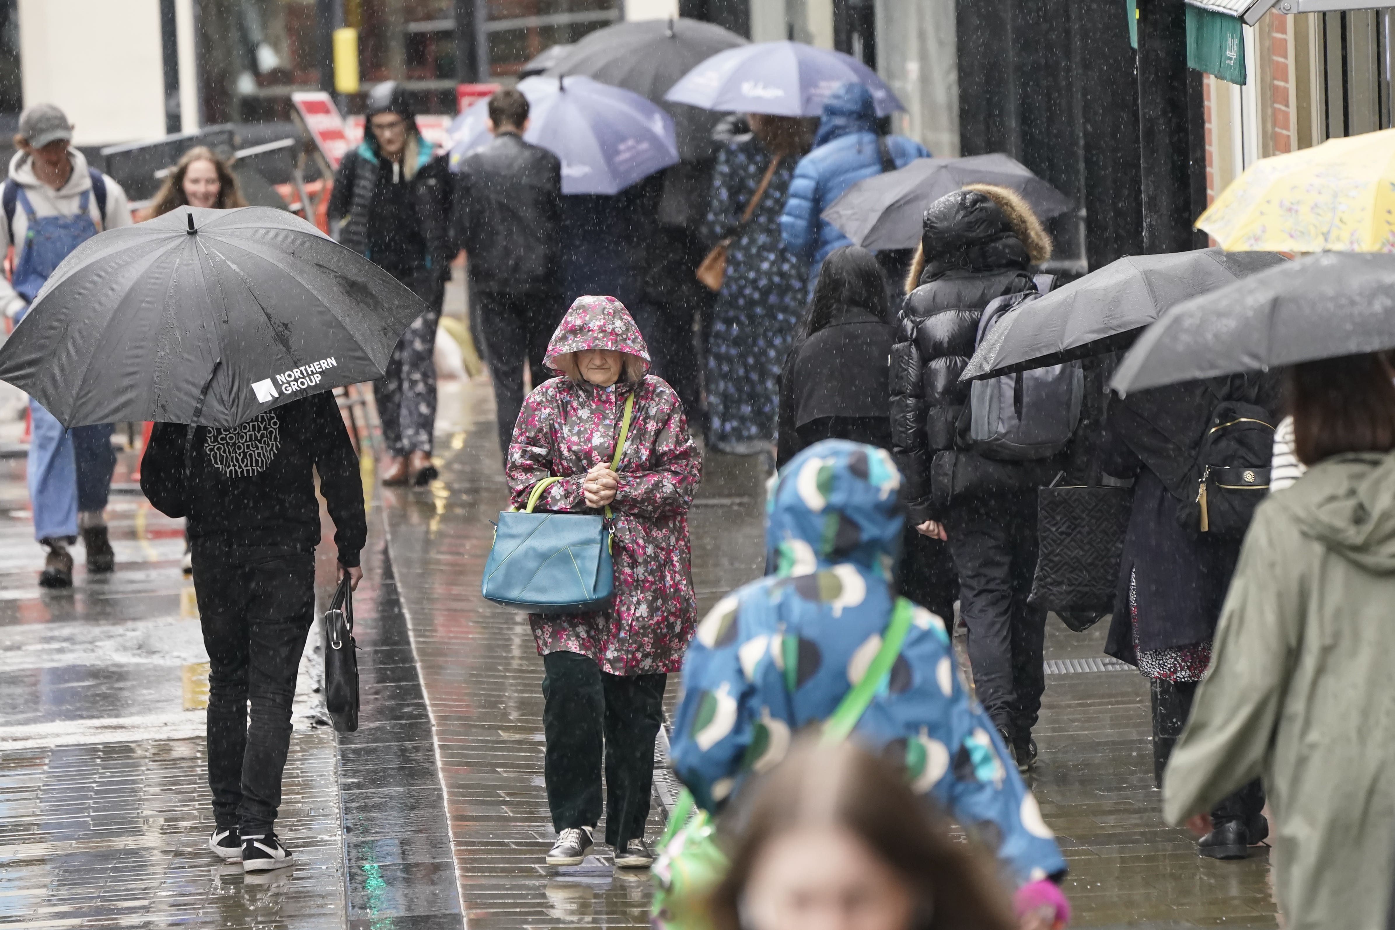
<svg viewBox="0 0 1395 930">
<path fill-rule="evenodd" d="M 752 789 L 732 811 L 714 930 L 1017 926 L 990 857 L 953 842 L 904 772 L 855 745 L 797 746 Z"/>
</svg>

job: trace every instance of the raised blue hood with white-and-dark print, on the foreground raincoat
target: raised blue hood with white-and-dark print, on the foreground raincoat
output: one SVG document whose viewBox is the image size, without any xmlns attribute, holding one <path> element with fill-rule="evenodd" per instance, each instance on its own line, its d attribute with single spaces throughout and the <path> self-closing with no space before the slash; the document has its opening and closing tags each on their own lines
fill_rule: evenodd
<svg viewBox="0 0 1395 930">
<path fill-rule="evenodd" d="M 766 565 L 799 577 L 852 562 L 891 577 L 905 523 L 901 473 L 876 446 L 824 439 L 780 470 L 766 499 Z"/>
</svg>

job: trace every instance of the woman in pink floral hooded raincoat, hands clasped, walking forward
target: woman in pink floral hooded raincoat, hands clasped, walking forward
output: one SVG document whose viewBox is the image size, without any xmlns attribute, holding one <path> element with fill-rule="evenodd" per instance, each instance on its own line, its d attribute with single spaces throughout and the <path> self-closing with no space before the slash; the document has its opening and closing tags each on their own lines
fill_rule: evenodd
<svg viewBox="0 0 1395 930">
<path fill-rule="evenodd" d="M 601 816 L 619 867 L 649 867 L 644 821 L 653 789 L 654 739 L 668 672 L 682 665 L 698 602 L 688 547 L 688 505 L 702 460 L 678 395 L 644 374 L 649 350 L 614 297 L 579 297 L 552 335 L 544 364 L 562 372 L 533 390 L 513 427 L 506 477 L 523 509 L 551 475 L 536 510 L 610 506 L 615 597 L 590 613 L 530 615 L 543 655 L 547 802 L 554 866 L 591 851 Z M 625 402 L 635 397 L 618 467 Z"/>
</svg>

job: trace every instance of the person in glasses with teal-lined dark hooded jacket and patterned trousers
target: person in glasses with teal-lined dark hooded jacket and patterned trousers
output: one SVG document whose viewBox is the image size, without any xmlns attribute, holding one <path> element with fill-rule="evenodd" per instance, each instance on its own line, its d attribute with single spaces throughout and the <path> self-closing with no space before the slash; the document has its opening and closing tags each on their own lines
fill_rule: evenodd
<svg viewBox="0 0 1395 930">
<path fill-rule="evenodd" d="M 388 460 L 382 482 L 424 485 L 435 431 L 437 323 L 451 259 L 451 176 L 445 158 L 417 130 L 416 109 L 395 81 L 368 92 L 363 144 L 345 155 L 329 195 L 340 243 L 410 287 L 427 312 L 417 317 L 374 385 Z"/>
</svg>

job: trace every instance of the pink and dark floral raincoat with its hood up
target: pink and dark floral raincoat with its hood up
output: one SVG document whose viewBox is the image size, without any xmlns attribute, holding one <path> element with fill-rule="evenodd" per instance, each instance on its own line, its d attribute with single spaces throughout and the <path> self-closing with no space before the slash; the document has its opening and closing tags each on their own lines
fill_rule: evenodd
<svg viewBox="0 0 1395 930">
<path fill-rule="evenodd" d="M 644 339 L 614 297 L 576 298 L 544 361 L 559 371 L 559 356 L 586 349 L 622 351 L 647 368 Z M 537 481 L 562 475 L 534 509 L 585 512 L 582 480 L 596 463 L 610 464 L 631 393 L 635 409 L 611 503 L 615 598 L 605 611 L 533 613 L 529 623 L 540 655 L 580 653 L 611 675 L 677 672 L 698 615 L 688 506 L 702 480 L 702 459 L 674 389 L 654 375 L 610 388 L 565 375 L 543 382 L 523 400 L 505 477 L 518 509 Z"/>
</svg>

